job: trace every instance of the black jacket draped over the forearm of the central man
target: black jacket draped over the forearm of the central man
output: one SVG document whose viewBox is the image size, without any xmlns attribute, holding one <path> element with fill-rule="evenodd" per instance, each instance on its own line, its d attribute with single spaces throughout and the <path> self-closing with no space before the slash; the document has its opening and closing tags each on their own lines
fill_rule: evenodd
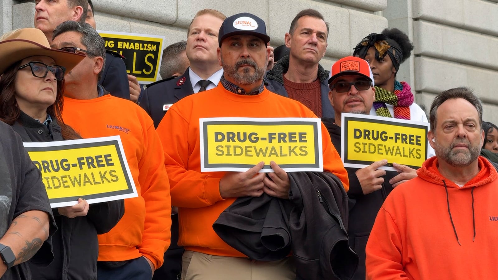
<svg viewBox="0 0 498 280">
<path fill-rule="evenodd" d="M 292 251 L 297 280 L 351 279 L 358 256 L 344 221 L 348 197 L 328 172 L 289 172 L 289 200 L 241 197 L 213 224 L 223 241 L 251 259 L 280 260 Z"/>
</svg>

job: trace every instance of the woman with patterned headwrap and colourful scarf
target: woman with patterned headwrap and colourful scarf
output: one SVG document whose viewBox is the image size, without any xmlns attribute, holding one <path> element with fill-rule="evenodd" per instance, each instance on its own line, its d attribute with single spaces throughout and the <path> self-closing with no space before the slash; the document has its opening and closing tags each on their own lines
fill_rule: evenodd
<svg viewBox="0 0 498 280">
<path fill-rule="evenodd" d="M 375 101 L 370 115 L 421 121 L 427 123 L 425 112 L 413 103 L 411 88 L 398 82 L 399 66 L 411 55 L 413 45 L 408 36 L 397 28 L 371 33 L 355 48 L 354 56 L 370 63 L 375 82 Z"/>
</svg>

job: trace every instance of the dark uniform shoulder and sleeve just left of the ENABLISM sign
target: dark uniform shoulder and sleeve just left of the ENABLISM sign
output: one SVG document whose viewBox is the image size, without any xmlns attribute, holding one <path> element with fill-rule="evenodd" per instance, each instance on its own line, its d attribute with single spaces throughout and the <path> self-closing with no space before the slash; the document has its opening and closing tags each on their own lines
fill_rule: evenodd
<svg viewBox="0 0 498 280">
<path fill-rule="evenodd" d="M 129 100 L 128 73 L 121 54 L 106 50 L 106 65 L 99 80 L 111 95 Z"/>
</svg>

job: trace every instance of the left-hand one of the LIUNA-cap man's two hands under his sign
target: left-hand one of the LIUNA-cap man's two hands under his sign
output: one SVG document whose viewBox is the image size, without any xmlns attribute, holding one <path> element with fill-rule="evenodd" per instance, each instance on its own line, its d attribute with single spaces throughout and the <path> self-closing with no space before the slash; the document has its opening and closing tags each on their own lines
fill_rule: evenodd
<svg viewBox="0 0 498 280">
<path fill-rule="evenodd" d="M 265 173 L 259 173 L 263 168 L 261 161 L 245 172 L 227 172 L 220 180 L 220 195 L 223 198 L 253 196 L 263 194 L 263 178 Z"/>
</svg>

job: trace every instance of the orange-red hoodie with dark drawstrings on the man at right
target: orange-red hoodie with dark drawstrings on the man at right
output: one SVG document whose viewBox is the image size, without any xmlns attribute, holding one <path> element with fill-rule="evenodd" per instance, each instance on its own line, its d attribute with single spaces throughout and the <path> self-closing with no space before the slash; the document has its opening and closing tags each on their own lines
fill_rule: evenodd
<svg viewBox="0 0 498 280">
<path fill-rule="evenodd" d="M 484 157 L 478 164 L 459 187 L 431 157 L 389 194 L 367 243 L 367 279 L 497 279 L 498 175 Z"/>
</svg>

